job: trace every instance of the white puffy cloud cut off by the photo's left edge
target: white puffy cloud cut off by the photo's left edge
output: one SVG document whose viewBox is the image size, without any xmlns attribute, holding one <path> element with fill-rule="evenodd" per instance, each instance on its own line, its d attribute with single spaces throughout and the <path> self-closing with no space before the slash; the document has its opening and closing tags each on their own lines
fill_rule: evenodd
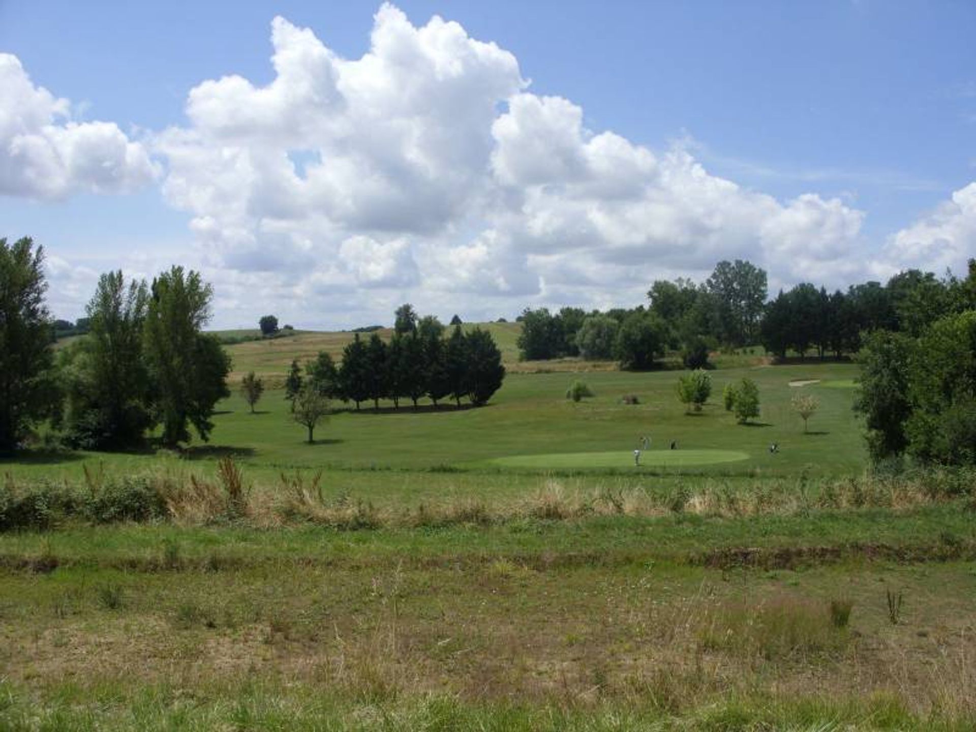
<svg viewBox="0 0 976 732">
<path fill-rule="evenodd" d="M 111 122 L 72 121 L 67 100 L 34 86 L 16 56 L 0 54 L 0 195 L 128 192 L 155 173 L 140 142 Z"/>
</svg>

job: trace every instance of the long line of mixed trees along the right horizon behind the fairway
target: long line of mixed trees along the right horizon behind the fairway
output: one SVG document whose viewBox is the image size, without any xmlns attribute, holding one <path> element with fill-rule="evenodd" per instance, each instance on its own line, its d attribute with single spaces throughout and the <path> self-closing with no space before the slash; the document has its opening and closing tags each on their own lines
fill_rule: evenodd
<svg viewBox="0 0 976 732">
<path fill-rule="evenodd" d="M 970 275 L 971 276 L 971 275 Z M 689 369 L 708 365 L 719 348 L 759 344 L 778 358 L 857 353 L 877 330 L 917 337 L 965 304 L 966 280 L 910 269 L 830 292 L 802 282 L 767 302 L 767 276 L 745 262 L 719 262 L 705 282 L 656 280 L 647 305 L 589 313 L 579 307 L 527 308 L 518 339 L 525 360 L 583 356 L 642 369 L 669 351 Z"/>
</svg>

